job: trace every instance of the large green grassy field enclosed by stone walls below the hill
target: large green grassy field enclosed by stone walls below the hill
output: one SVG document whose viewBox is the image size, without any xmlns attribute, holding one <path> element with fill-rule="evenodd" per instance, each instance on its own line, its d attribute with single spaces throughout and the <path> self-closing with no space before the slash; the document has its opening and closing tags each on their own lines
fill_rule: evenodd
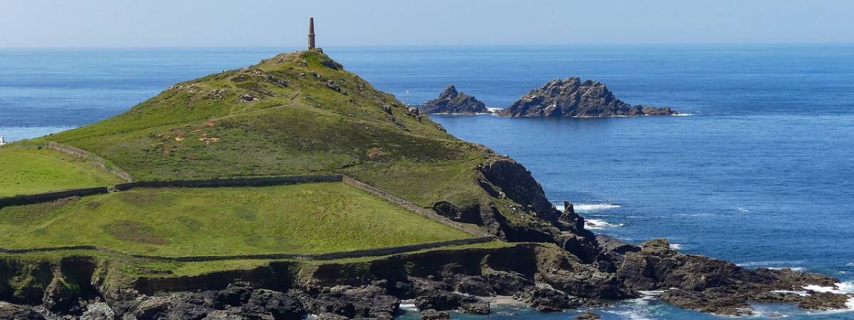
<svg viewBox="0 0 854 320">
<path fill-rule="evenodd" d="M 345 183 L 132 189 L 0 209 L 0 247 L 127 253 L 328 253 L 470 237 Z"/>
</svg>

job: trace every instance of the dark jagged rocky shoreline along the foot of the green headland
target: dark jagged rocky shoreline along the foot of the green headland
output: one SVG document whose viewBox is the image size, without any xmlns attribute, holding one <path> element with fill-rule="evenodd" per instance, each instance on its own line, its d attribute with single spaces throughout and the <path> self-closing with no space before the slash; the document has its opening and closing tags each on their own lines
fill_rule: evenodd
<svg viewBox="0 0 854 320">
<path fill-rule="evenodd" d="M 489 314 L 494 297 L 512 297 L 537 311 L 602 306 L 659 290 L 670 304 L 729 316 L 752 313 L 748 301 L 786 302 L 807 310 L 845 308 L 845 294 L 794 293 L 837 279 L 792 270 L 749 270 L 726 261 L 682 254 L 668 241 L 635 246 L 595 236 L 591 263 L 564 247 L 442 249 L 368 262 L 321 265 L 271 263 L 252 271 L 181 279 L 140 278 L 132 288 L 109 288 L 104 278 L 57 277 L 44 292 L 0 303 L 2 319 L 391 319 L 409 301 L 424 319 L 447 312 Z M 582 245 L 583 246 L 583 245 Z M 71 268 L 77 268 L 75 272 Z M 62 273 L 101 269 L 91 259 L 65 259 Z M 82 272 L 81 272 L 82 271 Z M 85 288 L 81 293 L 68 285 Z M 506 298 L 505 298 L 506 303 Z M 585 316 L 594 318 L 593 316 Z"/>
</svg>

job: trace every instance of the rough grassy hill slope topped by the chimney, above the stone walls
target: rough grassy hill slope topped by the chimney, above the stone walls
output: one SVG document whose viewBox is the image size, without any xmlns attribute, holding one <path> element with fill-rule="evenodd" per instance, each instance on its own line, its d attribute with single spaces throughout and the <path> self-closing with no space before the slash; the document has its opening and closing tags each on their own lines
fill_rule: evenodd
<svg viewBox="0 0 854 320">
<path fill-rule="evenodd" d="M 130 111 L 41 139 L 137 180 L 345 173 L 430 207 L 483 195 L 483 151 L 314 51 L 175 84 Z"/>
</svg>

